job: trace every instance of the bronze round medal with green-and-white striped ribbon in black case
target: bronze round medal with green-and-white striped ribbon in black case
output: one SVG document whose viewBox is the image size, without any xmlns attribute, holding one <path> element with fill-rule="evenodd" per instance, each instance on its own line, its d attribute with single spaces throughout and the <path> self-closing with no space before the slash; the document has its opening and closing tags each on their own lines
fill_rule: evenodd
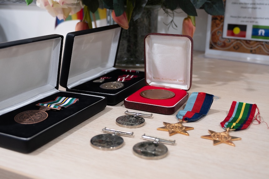
<svg viewBox="0 0 269 179">
<path fill-rule="evenodd" d="M 36 106 L 40 106 L 39 110 L 24 111 L 17 114 L 14 120 L 20 124 L 35 124 L 45 120 L 48 117 L 48 113 L 45 111 L 61 110 L 76 103 L 78 98 L 72 97 L 56 97 L 54 101 L 47 101 L 44 103 L 38 103 Z"/>
</svg>

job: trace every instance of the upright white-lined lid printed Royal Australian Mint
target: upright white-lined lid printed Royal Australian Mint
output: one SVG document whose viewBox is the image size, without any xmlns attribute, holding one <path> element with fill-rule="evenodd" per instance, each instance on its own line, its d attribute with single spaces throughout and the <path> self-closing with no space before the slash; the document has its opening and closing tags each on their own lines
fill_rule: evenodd
<svg viewBox="0 0 269 179">
<path fill-rule="evenodd" d="M 154 87 L 188 90 L 192 41 L 185 36 L 148 35 L 145 39 L 146 82 Z"/>
</svg>

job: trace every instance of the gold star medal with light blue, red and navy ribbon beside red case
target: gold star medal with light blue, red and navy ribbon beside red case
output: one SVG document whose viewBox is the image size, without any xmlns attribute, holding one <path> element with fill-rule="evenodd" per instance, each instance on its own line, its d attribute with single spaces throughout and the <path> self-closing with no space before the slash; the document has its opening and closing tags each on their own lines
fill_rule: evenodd
<svg viewBox="0 0 269 179">
<path fill-rule="evenodd" d="M 180 110 L 176 117 L 179 122 L 170 124 L 164 122 L 164 127 L 159 127 L 157 130 L 169 131 L 169 136 L 174 134 L 189 135 L 188 130 L 193 130 L 193 127 L 183 126 L 182 122 L 197 121 L 207 115 L 210 106 L 213 102 L 213 95 L 204 92 L 193 92 L 188 98 L 184 110 Z"/>
</svg>

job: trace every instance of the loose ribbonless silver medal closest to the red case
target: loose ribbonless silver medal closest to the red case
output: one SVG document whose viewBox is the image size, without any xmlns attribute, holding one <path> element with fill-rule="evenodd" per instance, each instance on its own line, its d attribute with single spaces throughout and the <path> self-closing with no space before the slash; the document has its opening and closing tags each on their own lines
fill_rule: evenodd
<svg viewBox="0 0 269 179">
<path fill-rule="evenodd" d="M 152 117 L 152 114 L 139 113 L 133 111 L 125 111 L 125 114 L 134 114 L 134 115 L 123 115 L 116 119 L 116 124 L 120 127 L 125 128 L 138 128 L 145 124 L 145 119 L 140 116 Z"/>
</svg>

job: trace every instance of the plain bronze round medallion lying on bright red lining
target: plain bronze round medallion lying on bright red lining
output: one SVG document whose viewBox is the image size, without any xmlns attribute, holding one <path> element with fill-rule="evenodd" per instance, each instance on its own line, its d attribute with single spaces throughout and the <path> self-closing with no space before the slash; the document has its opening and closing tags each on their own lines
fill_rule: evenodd
<svg viewBox="0 0 269 179">
<path fill-rule="evenodd" d="M 140 95 L 149 99 L 169 99 L 174 97 L 175 93 L 163 89 L 150 89 L 140 92 Z"/>
</svg>

